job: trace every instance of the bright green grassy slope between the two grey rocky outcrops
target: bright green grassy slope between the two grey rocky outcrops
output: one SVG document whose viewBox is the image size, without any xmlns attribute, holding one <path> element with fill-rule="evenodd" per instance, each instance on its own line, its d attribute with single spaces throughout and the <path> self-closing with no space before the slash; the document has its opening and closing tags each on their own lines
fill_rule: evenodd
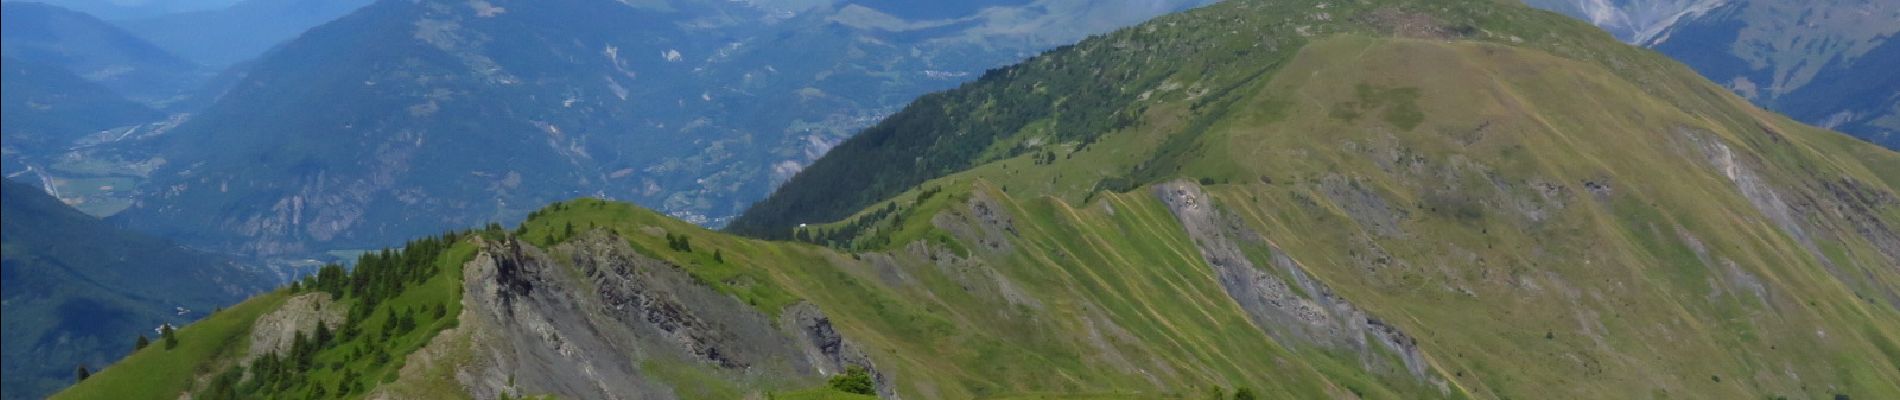
<svg viewBox="0 0 1900 400">
<path fill-rule="evenodd" d="M 1391 398 L 1438 396 L 1423 383 L 1372 379 L 1357 360 L 1275 345 L 1227 301 L 1186 235 L 1170 226 L 1167 209 L 1142 195 L 1112 199 L 1121 207 L 1113 216 L 1054 201 L 1022 205 L 1034 207 L 1022 216 L 1039 216 L 1018 222 L 1024 237 L 1039 241 L 1020 243 L 1034 250 L 996 262 L 1039 305 L 965 290 L 961 284 L 982 282 L 969 281 L 969 271 L 935 267 L 929 254 L 893 252 L 904 282 L 891 284 L 882 275 L 891 271 L 847 254 L 739 239 L 593 199 L 543 210 L 524 224 L 524 237 L 560 241 L 568 224 L 578 231 L 614 229 L 635 248 L 688 265 L 703 282 L 760 311 L 813 301 L 847 337 L 874 349 L 906 396 L 1151 398 L 1214 387 L 1256 387 L 1279 396 L 1326 396 L 1347 387 Z M 667 250 L 667 233 L 692 237 L 694 252 Z M 714 250 L 724 264 L 712 260 Z M 1108 326 L 1121 337 L 1092 343 L 1117 334 Z"/>
</svg>

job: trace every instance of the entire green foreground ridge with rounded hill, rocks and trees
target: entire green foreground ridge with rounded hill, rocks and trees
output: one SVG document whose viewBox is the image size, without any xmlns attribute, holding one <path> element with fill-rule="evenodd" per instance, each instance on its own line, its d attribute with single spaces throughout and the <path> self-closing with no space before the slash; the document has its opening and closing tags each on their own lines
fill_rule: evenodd
<svg viewBox="0 0 1900 400">
<path fill-rule="evenodd" d="M 63 396 L 1896 398 L 1896 188 L 1556 13 L 1231 0 L 920 99 L 749 237 L 557 203 Z"/>
</svg>

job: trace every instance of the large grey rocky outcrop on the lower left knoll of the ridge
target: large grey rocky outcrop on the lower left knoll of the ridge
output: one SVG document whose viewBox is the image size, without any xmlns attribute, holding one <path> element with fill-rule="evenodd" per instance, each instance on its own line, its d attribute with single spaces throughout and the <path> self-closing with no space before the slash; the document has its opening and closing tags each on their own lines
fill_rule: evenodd
<svg viewBox="0 0 1900 400">
<path fill-rule="evenodd" d="M 542 250 L 486 241 L 466 265 L 464 326 L 475 362 L 456 379 L 475 398 L 676 398 L 648 368 L 692 368 L 745 383 L 821 385 L 863 366 L 889 377 L 815 305 L 766 313 L 644 256 L 606 231 Z"/>
</svg>

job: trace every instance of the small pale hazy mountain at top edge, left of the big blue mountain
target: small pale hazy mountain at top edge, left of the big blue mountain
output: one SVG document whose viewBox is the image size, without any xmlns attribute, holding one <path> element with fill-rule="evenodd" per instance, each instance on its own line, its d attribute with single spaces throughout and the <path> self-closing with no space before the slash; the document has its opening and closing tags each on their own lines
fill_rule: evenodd
<svg viewBox="0 0 1900 400">
<path fill-rule="evenodd" d="M 370 2 L 245 0 L 220 9 L 127 19 L 118 25 L 200 64 L 230 66 Z"/>
</svg>

